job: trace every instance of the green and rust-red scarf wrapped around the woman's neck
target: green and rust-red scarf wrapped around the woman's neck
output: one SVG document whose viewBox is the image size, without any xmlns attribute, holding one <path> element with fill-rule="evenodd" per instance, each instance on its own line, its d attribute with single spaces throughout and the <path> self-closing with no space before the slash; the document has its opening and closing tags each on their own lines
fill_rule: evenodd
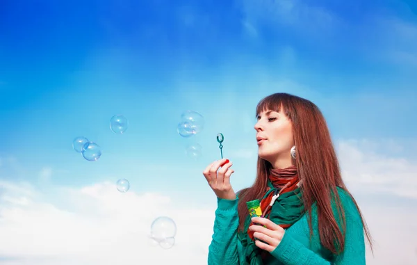
<svg viewBox="0 0 417 265">
<path fill-rule="evenodd" d="M 283 227 L 291 227 L 304 214 L 300 179 L 297 168 L 290 166 L 284 169 L 271 169 L 268 176 L 269 191 L 261 200 L 263 217 Z M 272 202 L 272 206 L 270 205 Z M 253 232 L 249 230 L 253 225 L 250 216 L 245 220 L 245 232 L 239 232 L 238 238 L 245 249 L 247 262 L 251 265 L 262 265 L 270 256 L 269 252 L 261 250 L 255 245 Z"/>
</svg>

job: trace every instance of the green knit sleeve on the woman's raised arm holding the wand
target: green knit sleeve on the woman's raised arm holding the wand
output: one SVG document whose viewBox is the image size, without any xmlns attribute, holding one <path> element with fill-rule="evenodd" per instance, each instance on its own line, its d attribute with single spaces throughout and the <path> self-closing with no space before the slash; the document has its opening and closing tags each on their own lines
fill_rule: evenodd
<svg viewBox="0 0 417 265">
<path fill-rule="evenodd" d="M 213 236 L 208 247 L 208 265 L 238 265 L 238 198 L 218 198 Z"/>
</svg>

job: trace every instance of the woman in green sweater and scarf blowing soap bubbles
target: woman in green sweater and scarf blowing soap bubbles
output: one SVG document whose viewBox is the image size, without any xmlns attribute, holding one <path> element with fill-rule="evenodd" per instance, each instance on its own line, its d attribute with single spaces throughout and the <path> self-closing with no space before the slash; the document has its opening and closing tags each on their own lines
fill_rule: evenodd
<svg viewBox="0 0 417 265">
<path fill-rule="evenodd" d="M 366 264 L 368 228 L 318 107 L 276 93 L 259 102 L 256 117 L 254 184 L 236 194 L 227 159 L 203 172 L 218 197 L 208 264 Z M 246 202 L 256 199 L 263 217 L 251 219 Z"/>
</svg>

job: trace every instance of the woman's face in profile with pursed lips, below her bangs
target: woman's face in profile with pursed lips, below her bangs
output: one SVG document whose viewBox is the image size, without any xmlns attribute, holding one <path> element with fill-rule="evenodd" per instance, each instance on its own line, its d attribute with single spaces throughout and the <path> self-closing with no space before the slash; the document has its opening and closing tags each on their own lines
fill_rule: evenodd
<svg viewBox="0 0 417 265">
<path fill-rule="evenodd" d="M 269 161 L 274 168 L 291 164 L 290 151 L 294 145 L 291 121 L 284 113 L 276 111 L 259 113 L 257 119 L 255 130 L 259 157 Z"/>
</svg>

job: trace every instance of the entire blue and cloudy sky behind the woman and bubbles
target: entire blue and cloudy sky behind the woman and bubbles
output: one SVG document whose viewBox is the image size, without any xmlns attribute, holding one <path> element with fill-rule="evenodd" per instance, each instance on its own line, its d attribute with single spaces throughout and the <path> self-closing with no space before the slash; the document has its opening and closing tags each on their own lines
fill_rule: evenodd
<svg viewBox="0 0 417 265">
<path fill-rule="evenodd" d="M 206 264 L 224 156 L 254 180 L 256 103 L 327 118 L 375 239 L 368 264 L 417 258 L 417 6 L 411 1 L 1 1 L 0 264 Z M 177 134 L 181 113 L 201 133 Z M 124 134 L 113 115 L 129 120 Z M 98 161 L 72 149 L 84 136 Z M 201 146 L 202 155 L 186 150 Z M 117 179 L 129 179 L 127 193 Z M 149 239 L 169 216 L 175 245 Z"/>
</svg>

